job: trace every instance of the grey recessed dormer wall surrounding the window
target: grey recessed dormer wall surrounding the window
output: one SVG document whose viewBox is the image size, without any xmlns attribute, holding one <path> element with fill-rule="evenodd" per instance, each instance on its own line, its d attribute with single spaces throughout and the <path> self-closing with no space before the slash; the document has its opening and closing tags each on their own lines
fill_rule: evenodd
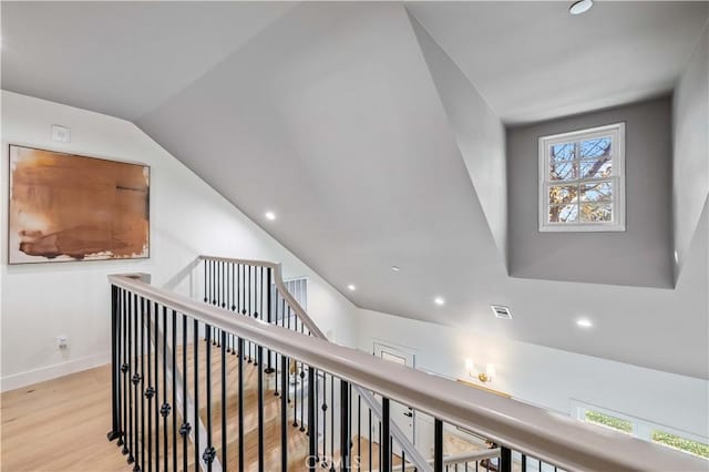
<svg viewBox="0 0 709 472">
<path fill-rule="evenodd" d="M 620 122 L 626 129 L 626 230 L 541 233 L 538 198 L 530 198 L 538 195 L 538 138 Z M 667 96 L 508 129 L 510 275 L 674 288 L 671 127 Z"/>
</svg>

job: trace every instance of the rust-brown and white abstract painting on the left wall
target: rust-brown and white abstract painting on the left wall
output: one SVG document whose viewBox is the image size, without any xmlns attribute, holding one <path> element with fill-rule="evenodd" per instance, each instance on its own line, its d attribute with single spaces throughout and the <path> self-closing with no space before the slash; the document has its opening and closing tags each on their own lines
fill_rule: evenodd
<svg viewBox="0 0 709 472">
<path fill-rule="evenodd" d="M 10 145 L 9 264 L 145 258 L 150 167 Z"/>
</svg>

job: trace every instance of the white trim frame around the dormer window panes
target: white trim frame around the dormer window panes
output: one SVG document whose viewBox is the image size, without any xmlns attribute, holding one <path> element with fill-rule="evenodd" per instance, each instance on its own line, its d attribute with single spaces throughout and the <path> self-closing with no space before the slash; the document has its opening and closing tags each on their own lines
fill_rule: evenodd
<svg viewBox="0 0 709 472">
<path fill-rule="evenodd" d="M 548 222 L 548 181 L 551 146 L 569 141 L 585 141 L 610 135 L 613 138 L 613 222 L 600 223 L 549 223 Z M 542 233 L 561 232 L 625 232 L 625 123 L 615 123 L 568 133 L 542 136 L 538 140 L 538 224 Z M 606 181 L 607 178 L 604 178 Z M 553 185 L 558 185 L 554 183 Z M 580 197 L 580 196 L 579 196 Z M 579 216 L 580 217 L 580 216 Z"/>
</svg>

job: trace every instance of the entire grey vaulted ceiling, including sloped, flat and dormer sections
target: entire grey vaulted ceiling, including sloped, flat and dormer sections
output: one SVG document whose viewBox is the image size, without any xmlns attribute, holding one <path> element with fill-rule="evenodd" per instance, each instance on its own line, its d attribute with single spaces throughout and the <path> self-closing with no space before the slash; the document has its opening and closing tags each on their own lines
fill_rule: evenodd
<svg viewBox="0 0 709 472">
<path fill-rule="evenodd" d="M 3 2 L 2 89 L 135 122 L 360 307 L 706 378 L 707 203 L 674 289 L 511 278 L 503 123 L 669 93 L 707 16 Z"/>
</svg>

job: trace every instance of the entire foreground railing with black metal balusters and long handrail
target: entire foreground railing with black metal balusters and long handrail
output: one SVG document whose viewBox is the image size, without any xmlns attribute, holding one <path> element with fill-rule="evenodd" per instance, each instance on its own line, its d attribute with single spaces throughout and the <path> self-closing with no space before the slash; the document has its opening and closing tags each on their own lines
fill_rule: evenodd
<svg viewBox="0 0 709 472">
<path fill-rule="evenodd" d="M 254 463 L 261 471 L 316 470 L 321 466 L 323 459 L 328 460 L 330 470 L 337 466 L 345 471 L 359 466 L 360 470 L 390 472 L 402 461 L 405 469 L 405 459 L 397 456 L 392 448 L 394 441 L 389 428 L 391 401 L 434 418 L 435 472 L 444 470 L 444 423 L 470 430 L 499 444 L 501 472 L 512 471 L 515 458 L 521 458 L 523 464 L 525 458 L 534 458 L 564 470 L 706 469 L 705 461 L 678 451 L 625 434 L 600 431 L 536 407 L 469 389 L 280 326 L 250 317 L 236 317 L 222 308 L 130 277 L 110 276 L 110 281 L 113 295 L 111 332 L 114 372 L 110 437 L 127 444 L 129 454 L 134 459 L 134 470 L 198 470 L 199 456 L 208 465 L 217 455 L 225 470 L 239 471 Z M 135 302 L 121 304 L 122 299 Z M 177 421 L 175 409 L 171 408 L 176 402 L 176 391 L 164 384 L 169 376 L 151 367 L 150 342 L 145 340 L 150 330 L 146 327 L 150 319 L 161 316 L 168 318 L 164 336 L 176 356 L 173 366 L 182 362 L 187 379 L 186 388 L 194 398 L 195 417 L 205 420 L 206 437 L 195 432 L 194 443 L 188 441 L 186 432 L 183 433 L 189 428 L 188 422 L 184 418 Z M 212 343 L 214 330 L 219 334 L 218 347 Z M 226 351 L 229 335 L 236 336 L 236 353 L 232 355 Z M 280 394 L 275 402 L 266 398 L 265 369 L 245 367 L 248 365 L 244 361 L 228 366 L 229 359 L 243 359 L 247 341 L 254 345 L 254 360 L 259 366 L 264 365 L 267 350 L 274 352 L 279 366 L 277 381 L 281 393 L 290 391 L 290 360 L 302 363 L 308 379 L 307 435 L 287 428 L 287 414 L 291 408 L 287 403 L 287 394 Z M 155 356 L 158 355 L 155 352 Z M 236 371 L 232 371 L 232 368 Z M 256 377 L 256 382 L 247 386 L 246 374 Z M 316 378 L 320 374 L 329 376 L 339 390 L 341 431 L 339 456 L 335 458 L 322 458 L 319 452 L 321 434 L 316 421 Z M 254 383 L 256 389 L 253 388 Z M 380 448 L 372 451 L 377 461 L 369 469 L 362 466 L 361 455 L 353 454 L 356 445 L 351 438 L 354 438 L 354 419 L 350 420 L 350 386 L 382 397 Z M 250 391 L 247 392 L 245 387 Z M 227 394 L 232 390 L 239 393 L 236 403 L 227 401 L 230 400 Z M 163 399 L 162 404 L 160 398 Z M 215 402 L 217 398 L 220 398 L 218 403 Z M 244 402 L 249 398 L 258 404 L 255 412 L 244 410 Z M 265 408 L 267 403 L 268 409 Z M 145 420 L 150 421 L 154 411 L 158 411 L 155 429 L 150 423 L 145 425 Z M 179 429 L 177 423 L 181 423 Z M 177 435 L 182 437 L 179 441 Z M 168 441 L 165 442 L 166 439 Z M 268 447 L 268 454 L 266 439 L 273 442 Z M 298 441 L 304 443 L 302 451 L 298 449 Z M 358 441 L 361 443 L 361 437 Z M 172 447 L 165 448 L 171 442 Z"/>
</svg>

